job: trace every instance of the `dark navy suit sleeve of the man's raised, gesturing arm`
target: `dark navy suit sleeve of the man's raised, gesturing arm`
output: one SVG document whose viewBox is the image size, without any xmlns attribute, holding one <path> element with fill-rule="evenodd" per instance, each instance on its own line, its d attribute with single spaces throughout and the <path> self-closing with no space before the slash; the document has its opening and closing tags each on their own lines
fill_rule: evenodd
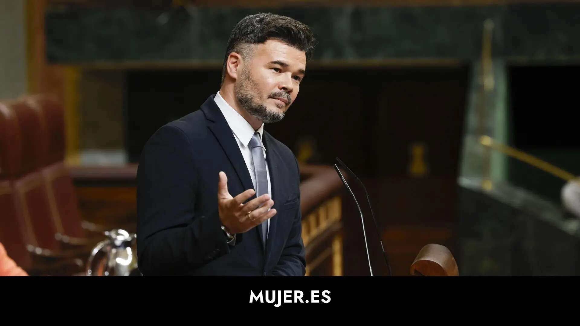
<svg viewBox="0 0 580 326">
<path fill-rule="evenodd" d="M 184 274 L 229 253 L 218 207 L 207 215 L 195 213 L 195 167 L 189 140 L 175 126 L 163 126 L 143 148 L 137 171 L 137 256 L 144 275 Z"/>
</svg>

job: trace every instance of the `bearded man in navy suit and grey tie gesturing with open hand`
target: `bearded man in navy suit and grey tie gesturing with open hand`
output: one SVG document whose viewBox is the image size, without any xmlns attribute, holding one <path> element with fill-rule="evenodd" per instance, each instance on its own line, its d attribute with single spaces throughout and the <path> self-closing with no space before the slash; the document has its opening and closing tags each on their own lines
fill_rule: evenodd
<svg viewBox="0 0 580 326">
<path fill-rule="evenodd" d="M 148 140 L 137 172 L 144 275 L 305 274 L 298 162 L 264 123 L 296 99 L 314 42 L 289 17 L 245 17 L 219 92 Z"/>
</svg>

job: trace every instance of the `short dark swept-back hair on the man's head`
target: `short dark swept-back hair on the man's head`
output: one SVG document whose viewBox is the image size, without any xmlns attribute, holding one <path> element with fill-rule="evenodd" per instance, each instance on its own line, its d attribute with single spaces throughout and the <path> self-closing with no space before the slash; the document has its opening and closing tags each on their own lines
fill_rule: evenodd
<svg viewBox="0 0 580 326">
<path fill-rule="evenodd" d="M 280 39 L 304 51 L 306 60 L 310 60 L 316 46 L 316 39 L 310 27 L 298 20 L 273 13 L 246 16 L 235 25 L 227 41 L 226 57 L 222 67 L 222 83 L 226 78 L 227 57 L 230 53 L 240 53 L 244 59 L 247 59 L 251 45 L 264 43 L 270 38 Z"/>
</svg>

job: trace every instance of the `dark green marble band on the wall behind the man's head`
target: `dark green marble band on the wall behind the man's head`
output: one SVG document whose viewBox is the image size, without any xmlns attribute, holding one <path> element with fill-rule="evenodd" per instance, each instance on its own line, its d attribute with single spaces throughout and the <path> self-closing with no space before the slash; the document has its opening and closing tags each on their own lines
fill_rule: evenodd
<svg viewBox="0 0 580 326">
<path fill-rule="evenodd" d="M 46 10 L 52 63 L 223 60 L 231 28 L 274 12 L 303 21 L 320 43 L 316 60 L 481 57 L 483 21 L 495 23 L 494 55 L 562 61 L 580 55 L 578 3 L 496 6 L 135 8 L 53 5 Z"/>
</svg>

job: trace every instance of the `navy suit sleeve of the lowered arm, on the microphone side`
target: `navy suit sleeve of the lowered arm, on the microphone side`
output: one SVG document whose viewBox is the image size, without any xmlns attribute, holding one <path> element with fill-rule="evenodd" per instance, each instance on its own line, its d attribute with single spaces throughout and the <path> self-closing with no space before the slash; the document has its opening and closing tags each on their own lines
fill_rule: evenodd
<svg viewBox="0 0 580 326">
<path fill-rule="evenodd" d="M 296 161 L 296 158 L 294 158 L 294 161 L 298 171 L 297 180 L 300 182 L 298 161 Z M 273 276 L 304 276 L 306 274 L 306 249 L 302 241 L 302 212 L 300 212 L 300 185 L 298 185 L 297 207 L 286 246 L 282 249 L 278 265 L 272 271 Z"/>
</svg>

